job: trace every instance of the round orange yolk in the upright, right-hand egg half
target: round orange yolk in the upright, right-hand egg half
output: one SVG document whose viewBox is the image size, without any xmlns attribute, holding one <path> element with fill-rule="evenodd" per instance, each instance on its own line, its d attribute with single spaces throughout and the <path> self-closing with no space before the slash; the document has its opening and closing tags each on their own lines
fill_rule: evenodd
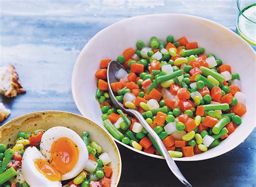
<svg viewBox="0 0 256 187">
<path fill-rule="evenodd" d="M 78 161 L 79 149 L 69 138 L 59 138 L 52 143 L 50 163 L 60 174 L 70 172 Z"/>
</svg>

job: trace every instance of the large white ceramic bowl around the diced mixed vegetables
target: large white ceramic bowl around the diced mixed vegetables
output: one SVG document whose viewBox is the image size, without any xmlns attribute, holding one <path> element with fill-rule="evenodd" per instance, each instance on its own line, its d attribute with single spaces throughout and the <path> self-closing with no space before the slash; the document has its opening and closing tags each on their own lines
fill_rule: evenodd
<svg viewBox="0 0 256 187">
<path fill-rule="evenodd" d="M 95 99 L 95 72 L 102 59 L 116 60 L 127 47 L 136 47 L 138 40 L 149 45 L 155 35 L 165 41 L 167 35 L 175 39 L 185 36 L 188 41 L 197 41 L 205 47 L 206 54 L 213 53 L 224 63 L 232 66 L 232 71 L 239 73 L 242 81 L 242 92 L 245 93 L 247 113 L 242 117 L 242 124 L 226 140 L 205 153 L 192 157 L 174 158 L 179 161 L 197 161 L 210 159 L 224 154 L 237 147 L 255 127 L 255 53 L 237 34 L 213 21 L 188 15 L 159 14 L 132 17 L 115 23 L 97 33 L 83 48 L 73 69 L 72 93 L 78 110 L 83 116 L 103 127 L 102 113 Z M 116 140 L 135 152 L 147 154 Z"/>
</svg>

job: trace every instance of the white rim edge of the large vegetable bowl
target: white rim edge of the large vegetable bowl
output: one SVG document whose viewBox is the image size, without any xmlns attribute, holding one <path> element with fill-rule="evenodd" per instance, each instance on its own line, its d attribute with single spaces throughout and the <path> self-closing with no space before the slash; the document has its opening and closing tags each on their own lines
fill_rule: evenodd
<svg viewBox="0 0 256 187">
<path fill-rule="evenodd" d="M 122 23 L 125 23 L 125 21 L 131 21 L 133 19 L 137 19 L 137 18 L 145 18 L 145 17 L 151 17 L 151 16 L 179 16 L 179 17 L 184 17 L 184 18 L 190 18 L 190 19 L 196 19 L 197 21 L 205 21 L 206 24 L 210 24 L 210 25 L 213 25 L 215 27 L 220 27 L 222 29 L 224 29 L 226 32 L 228 32 L 228 34 L 231 34 L 234 38 L 237 38 L 238 40 L 240 40 L 242 42 L 242 44 L 245 45 L 245 47 L 247 47 L 247 49 L 250 49 L 250 52 L 252 53 L 252 55 L 255 55 L 255 51 L 254 49 L 252 48 L 252 46 L 250 46 L 244 39 L 242 39 L 238 34 L 236 34 L 235 32 L 233 32 L 232 30 L 230 30 L 229 28 L 215 22 L 215 21 L 212 21 L 212 20 L 209 20 L 209 19 L 206 19 L 206 18 L 202 18 L 202 17 L 198 17 L 198 16 L 192 16 L 192 15 L 186 15 L 186 14 L 183 14 L 183 13 L 156 13 L 156 14 L 149 14 L 149 15 L 140 15 L 140 16 L 134 16 L 134 17 L 130 17 L 130 18 L 126 18 L 126 19 L 122 19 L 120 21 L 117 21 L 116 23 L 113 23 L 105 28 L 103 28 L 102 30 L 100 30 L 98 33 L 96 33 L 88 42 L 87 44 L 83 47 L 82 51 L 79 53 L 78 57 L 77 57 L 77 60 L 75 62 L 75 65 L 74 65 L 74 68 L 73 68 L 73 71 L 72 71 L 72 80 L 71 80 L 71 90 L 72 90 L 72 97 L 74 99 L 74 102 L 77 106 L 77 109 L 79 110 L 80 113 L 82 113 L 83 116 L 86 116 L 85 115 L 85 112 L 83 112 L 83 110 L 81 109 L 81 107 L 79 106 L 79 102 L 77 100 L 77 93 L 76 93 L 76 89 L 75 89 L 75 76 L 76 76 L 76 70 L 78 69 L 78 64 L 82 63 L 82 57 L 84 56 L 84 54 L 86 54 L 86 48 L 87 46 L 90 46 L 92 42 L 94 42 L 95 39 L 98 38 L 98 35 L 107 31 L 107 30 L 110 30 L 112 27 L 116 26 L 116 25 L 119 25 L 119 24 L 122 24 Z M 248 132 L 244 138 L 242 138 L 240 140 L 240 143 L 236 143 L 236 144 L 233 144 L 232 146 L 229 146 L 227 149 L 225 149 L 225 151 L 222 151 L 221 153 L 218 153 L 216 154 L 215 152 L 212 153 L 212 154 L 208 154 L 207 156 L 205 157 L 200 157 L 200 158 L 197 158 L 197 159 L 194 159 L 194 156 L 191 156 L 191 157 L 181 157 L 181 158 L 173 158 L 174 161 L 200 161 L 200 160 L 207 160 L 207 159 L 212 159 L 214 157 L 217 157 L 217 156 L 220 156 L 220 155 L 223 155 L 227 152 L 230 152 L 230 150 L 234 149 L 235 147 L 239 146 L 241 144 L 242 141 L 244 141 L 251 133 L 252 131 L 254 130 L 256 124 L 254 125 L 251 125 L 251 128 L 250 128 L 250 132 Z M 105 129 L 104 129 L 105 130 Z M 106 131 L 106 130 L 105 130 Z M 107 132 L 107 131 L 106 131 Z M 109 133 L 109 132 L 107 132 Z M 143 155 L 146 155 L 146 156 L 151 156 L 151 157 L 155 157 L 157 159 L 164 159 L 163 156 L 159 156 L 159 155 L 155 155 L 155 154 L 149 154 L 149 153 L 145 153 L 141 150 L 138 150 L 138 149 L 135 149 L 131 146 L 128 146 L 126 144 L 124 144 L 122 141 L 119 141 L 119 140 L 116 140 L 115 138 L 113 138 L 114 141 L 120 143 L 121 145 L 133 150 L 134 152 L 137 152 L 137 153 L 140 153 L 140 154 L 143 154 Z M 205 153 L 201 153 L 201 154 L 205 154 Z"/>
</svg>

